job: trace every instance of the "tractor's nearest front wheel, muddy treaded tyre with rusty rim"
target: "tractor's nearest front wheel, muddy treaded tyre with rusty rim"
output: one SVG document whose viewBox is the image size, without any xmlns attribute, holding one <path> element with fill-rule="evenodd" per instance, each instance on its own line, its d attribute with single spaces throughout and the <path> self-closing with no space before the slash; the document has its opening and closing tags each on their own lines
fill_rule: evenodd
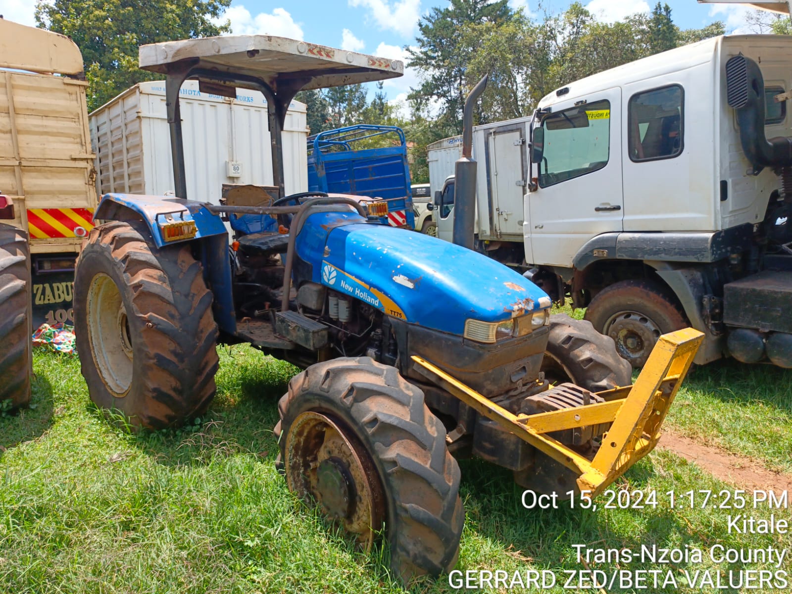
<svg viewBox="0 0 792 594">
<path fill-rule="evenodd" d="M 364 550 L 384 526 L 390 567 L 406 584 L 456 564 L 459 466 L 421 390 L 394 367 L 338 358 L 295 375 L 278 409 L 278 464 L 292 492 Z"/>
</svg>

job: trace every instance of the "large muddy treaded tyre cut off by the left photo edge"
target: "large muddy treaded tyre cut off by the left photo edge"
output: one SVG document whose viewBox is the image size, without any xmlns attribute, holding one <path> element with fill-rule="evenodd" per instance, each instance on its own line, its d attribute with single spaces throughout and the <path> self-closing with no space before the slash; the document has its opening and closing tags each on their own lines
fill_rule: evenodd
<svg viewBox="0 0 792 594">
<path fill-rule="evenodd" d="M 0 224 L 0 411 L 30 402 L 30 297 L 28 234 Z"/>
</svg>

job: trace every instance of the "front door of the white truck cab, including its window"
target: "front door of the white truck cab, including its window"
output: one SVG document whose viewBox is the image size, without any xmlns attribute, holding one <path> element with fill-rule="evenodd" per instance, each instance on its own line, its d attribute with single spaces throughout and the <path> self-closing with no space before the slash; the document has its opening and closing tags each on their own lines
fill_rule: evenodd
<svg viewBox="0 0 792 594">
<path fill-rule="evenodd" d="M 538 182 L 527 194 L 533 264 L 569 267 L 585 242 L 622 230 L 621 93 L 618 87 L 553 105 L 543 128 Z M 612 114 L 612 117 L 611 117 Z"/>
</svg>

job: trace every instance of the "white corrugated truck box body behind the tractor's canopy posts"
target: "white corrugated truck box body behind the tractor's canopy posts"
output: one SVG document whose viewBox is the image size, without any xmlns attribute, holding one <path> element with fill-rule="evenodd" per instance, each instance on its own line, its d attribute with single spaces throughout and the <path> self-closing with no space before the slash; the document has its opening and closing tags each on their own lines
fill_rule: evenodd
<svg viewBox="0 0 792 594">
<path fill-rule="evenodd" d="M 272 185 L 272 149 L 261 93 L 238 89 L 238 97 L 200 93 L 197 82 L 181 89 L 187 192 L 191 200 L 219 200 L 223 184 Z M 162 195 L 173 189 L 165 83 L 144 82 L 121 93 L 90 116 L 97 152 L 97 190 Z M 109 134 L 108 130 L 112 130 Z M 307 191 L 305 105 L 292 102 L 284 126 L 287 193 Z M 242 164 L 227 176 L 227 162 Z"/>
</svg>

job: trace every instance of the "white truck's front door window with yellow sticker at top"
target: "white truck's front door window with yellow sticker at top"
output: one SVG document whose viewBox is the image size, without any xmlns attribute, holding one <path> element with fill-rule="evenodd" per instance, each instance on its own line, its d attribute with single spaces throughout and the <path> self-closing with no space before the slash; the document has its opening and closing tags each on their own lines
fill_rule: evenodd
<svg viewBox="0 0 792 594">
<path fill-rule="evenodd" d="M 542 127 L 545 132 L 539 185 L 543 188 L 607 165 L 611 149 L 610 101 L 594 101 L 550 114 Z"/>
</svg>

